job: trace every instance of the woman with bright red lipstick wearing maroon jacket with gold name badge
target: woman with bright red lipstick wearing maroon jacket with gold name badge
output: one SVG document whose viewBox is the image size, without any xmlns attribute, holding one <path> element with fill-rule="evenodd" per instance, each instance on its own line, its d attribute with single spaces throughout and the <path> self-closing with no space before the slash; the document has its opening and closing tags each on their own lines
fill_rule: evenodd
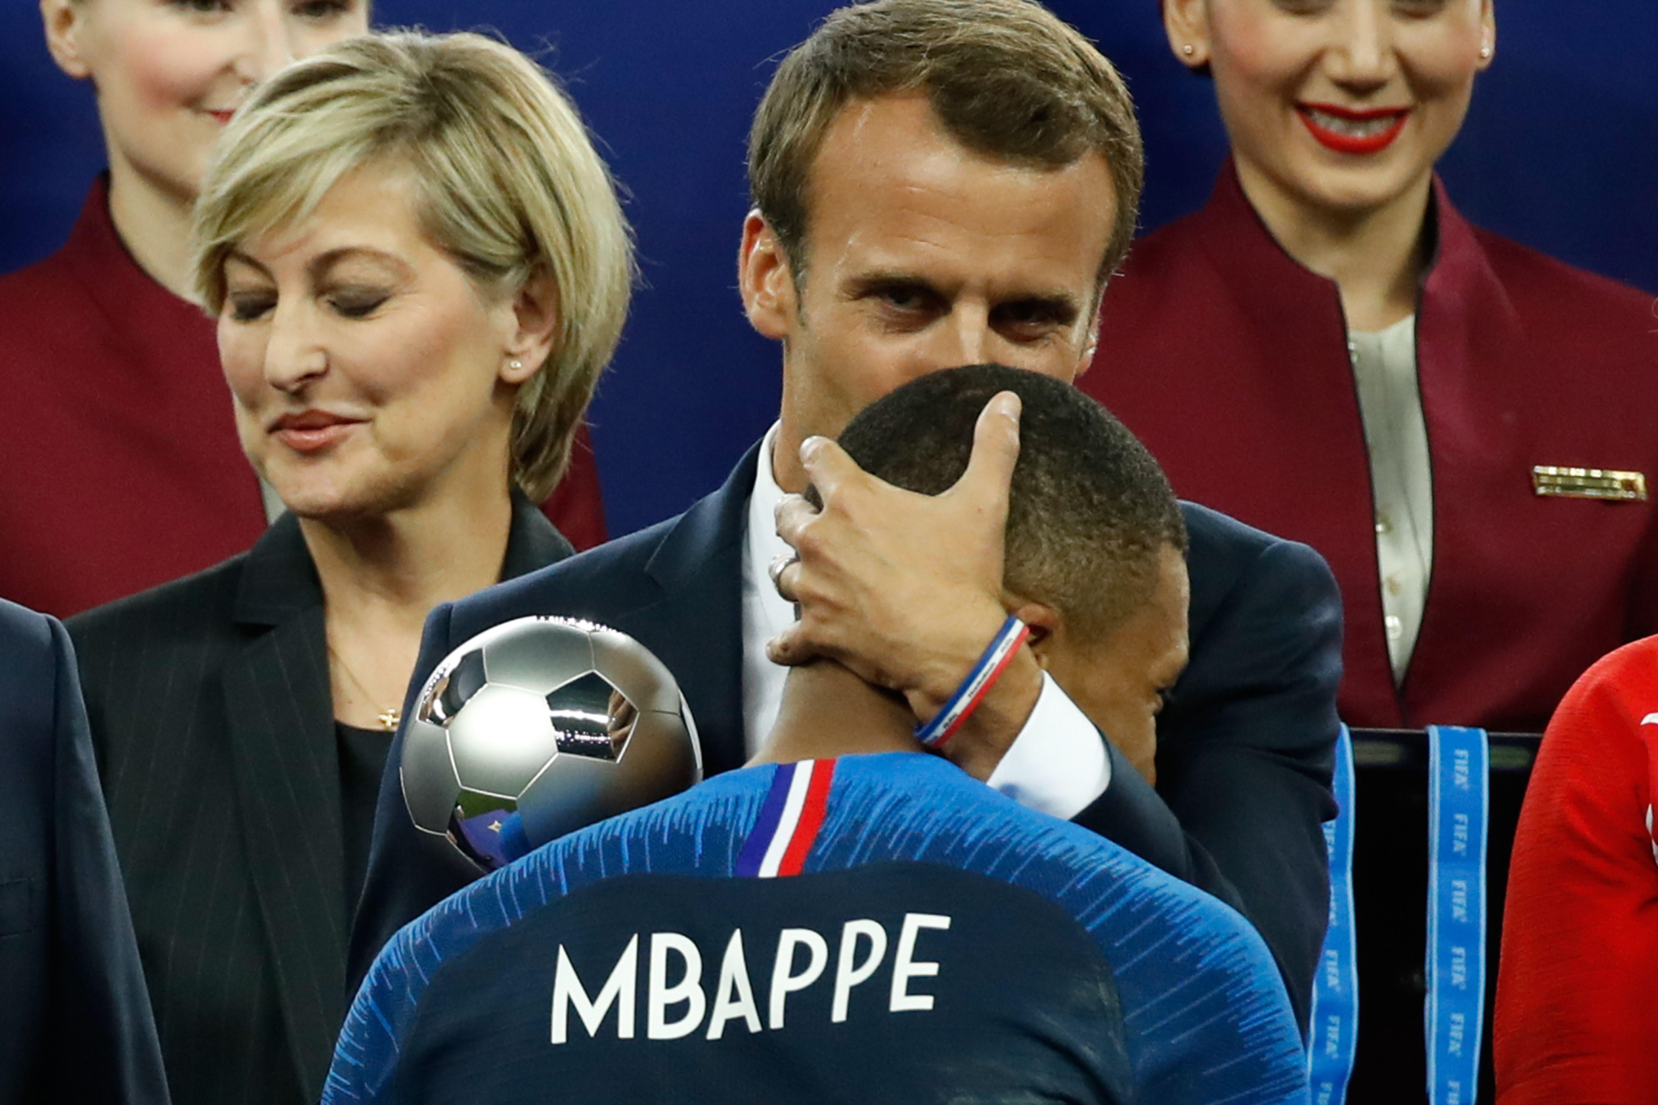
<svg viewBox="0 0 1658 1105">
<path fill-rule="evenodd" d="M 1434 177 L 1492 0 L 1167 0 L 1232 159 L 1141 242 L 1083 386 L 1176 490 L 1325 555 L 1355 726 L 1540 732 L 1658 631 L 1651 297 L 1471 227 Z"/>
</svg>

